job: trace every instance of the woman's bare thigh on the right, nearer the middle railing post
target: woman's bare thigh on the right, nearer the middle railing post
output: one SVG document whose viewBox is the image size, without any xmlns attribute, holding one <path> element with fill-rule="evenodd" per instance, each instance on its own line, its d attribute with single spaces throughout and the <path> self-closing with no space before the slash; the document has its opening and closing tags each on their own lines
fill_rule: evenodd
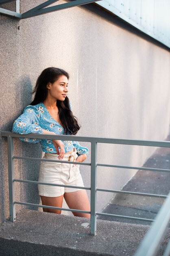
<svg viewBox="0 0 170 256">
<path fill-rule="evenodd" d="M 75 192 L 65 192 L 64 199 L 70 209 L 90 211 L 89 198 L 85 189 Z M 80 213 L 75 211 L 72 211 L 72 213 L 74 216 L 90 218 L 90 213 Z"/>
</svg>

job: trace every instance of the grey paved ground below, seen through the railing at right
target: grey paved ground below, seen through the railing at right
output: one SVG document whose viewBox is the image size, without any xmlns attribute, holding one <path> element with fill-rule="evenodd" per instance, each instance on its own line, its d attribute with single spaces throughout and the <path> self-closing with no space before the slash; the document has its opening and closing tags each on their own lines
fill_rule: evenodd
<svg viewBox="0 0 170 256">
<path fill-rule="evenodd" d="M 166 141 L 170 141 L 170 135 Z M 142 167 L 170 169 L 170 148 L 157 148 Z M 167 195 L 170 191 L 170 173 L 139 170 L 122 190 Z M 163 198 L 116 194 L 116 197 L 107 204 L 102 212 L 154 219 L 164 200 Z M 97 218 L 143 225 L 152 223 L 105 216 Z"/>
</svg>

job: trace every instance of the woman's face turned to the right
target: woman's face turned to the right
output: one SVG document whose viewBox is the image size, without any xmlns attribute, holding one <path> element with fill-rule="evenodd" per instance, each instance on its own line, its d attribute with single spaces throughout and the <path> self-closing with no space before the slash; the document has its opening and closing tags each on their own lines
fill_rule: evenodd
<svg viewBox="0 0 170 256">
<path fill-rule="evenodd" d="M 64 101 L 68 93 L 68 78 L 67 76 L 61 75 L 54 83 L 49 83 L 47 88 L 48 97 L 53 97 L 56 100 Z"/>
</svg>

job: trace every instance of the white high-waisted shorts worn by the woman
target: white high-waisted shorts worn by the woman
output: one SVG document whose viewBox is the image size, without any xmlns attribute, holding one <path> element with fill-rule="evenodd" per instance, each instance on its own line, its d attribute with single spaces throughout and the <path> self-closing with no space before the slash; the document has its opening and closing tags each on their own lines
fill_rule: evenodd
<svg viewBox="0 0 170 256">
<path fill-rule="evenodd" d="M 72 152 L 71 154 L 65 154 L 61 161 L 68 161 L 70 155 L 75 155 L 77 158 L 78 155 L 76 154 L 77 151 Z M 53 159 L 59 160 L 58 154 L 54 153 L 45 153 L 45 159 Z M 73 161 L 73 159 L 71 160 Z M 76 164 L 73 162 L 73 164 Z M 73 164 L 70 163 L 57 163 L 57 162 L 46 162 L 42 161 L 40 170 L 39 170 L 39 182 L 47 182 L 47 183 L 55 183 L 55 184 L 62 184 L 62 185 L 69 185 L 69 186 L 83 186 L 83 179 L 80 173 L 80 164 L 76 164 L 73 167 Z M 50 186 L 50 185 L 43 185 L 38 184 L 39 195 L 56 197 L 63 195 L 65 192 L 74 192 L 81 189 L 78 188 L 67 188 L 63 186 Z"/>
</svg>

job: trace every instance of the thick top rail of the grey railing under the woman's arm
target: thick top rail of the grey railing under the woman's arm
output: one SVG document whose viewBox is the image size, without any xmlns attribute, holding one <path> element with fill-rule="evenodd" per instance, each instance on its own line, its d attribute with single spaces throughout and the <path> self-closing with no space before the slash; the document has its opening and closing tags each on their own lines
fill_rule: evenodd
<svg viewBox="0 0 170 256">
<path fill-rule="evenodd" d="M 18 134 L 9 131 L 1 132 L 2 137 L 23 137 L 23 138 L 35 138 L 35 139 L 61 139 L 61 140 L 75 140 L 85 142 L 97 142 L 97 143 L 109 143 L 109 144 L 124 144 L 124 145 L 136 145 L 136 146 L 155 146 L 170 148 L 170 141 L 150 141 L 150 140 L 137 140 L 137 139 L 113 139 L 113 138 L 101 138 L 101 137 L 84 137 L 75 135 L 53 135 L 53 134 Z"/>
</svg>

